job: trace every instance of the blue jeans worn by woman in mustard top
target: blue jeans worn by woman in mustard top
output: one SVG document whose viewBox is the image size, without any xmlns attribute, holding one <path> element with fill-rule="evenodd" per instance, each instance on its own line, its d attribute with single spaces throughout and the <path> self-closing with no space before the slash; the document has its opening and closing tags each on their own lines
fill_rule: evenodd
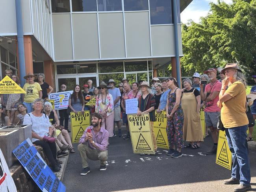
<svg viewBox="0 0 256 192">
<path fill-rule="evenodd" d="M 240 184 L 250 185 L 250 164 L 245 146 L 248 126 L 225 129 L 228 147 L 232 152 L 232 174 L 234 179 L 240 179 Z"/>
</svg>

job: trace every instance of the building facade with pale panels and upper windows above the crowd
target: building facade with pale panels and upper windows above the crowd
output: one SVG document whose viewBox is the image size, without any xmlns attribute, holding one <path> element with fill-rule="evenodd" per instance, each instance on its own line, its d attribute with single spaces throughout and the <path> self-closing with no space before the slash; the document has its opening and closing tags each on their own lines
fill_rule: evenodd
<svg viewBox="0 0 256 192">
<path fill-rule="evenodd" d="M 182 55 L 180 12 L 191 0 L 22 0 L 26 72 L 44 72 L 59 90 L 92 79 L 150 80 L 175 62 L 174 17 Z M 0 0 L 1 74 L 19 73 L 15 0 Z M 174 15 L 174 9 L 177 15 Z M 7 40 L 13 42 L 8 43 Z"/>
</svg>

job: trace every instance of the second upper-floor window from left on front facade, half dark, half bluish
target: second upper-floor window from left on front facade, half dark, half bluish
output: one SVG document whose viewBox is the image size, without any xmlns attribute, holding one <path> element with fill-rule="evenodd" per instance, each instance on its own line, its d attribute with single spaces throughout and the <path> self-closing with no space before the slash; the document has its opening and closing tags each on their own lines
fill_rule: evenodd
<svg viewBox="0 0 256 192">
<path fill-rule="evenodd" d="M 97 11 L 97 1 L 72 0 L 72 11 Z"/>
</svg>

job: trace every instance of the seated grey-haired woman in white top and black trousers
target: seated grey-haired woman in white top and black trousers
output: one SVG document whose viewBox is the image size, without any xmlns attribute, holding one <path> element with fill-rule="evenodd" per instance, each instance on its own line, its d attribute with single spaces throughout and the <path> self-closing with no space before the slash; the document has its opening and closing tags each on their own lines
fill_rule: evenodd
<svg viewBox="0 0 256 192">
<path fill-rule="evenodd" d="M 52 137 L 53 129 L 49 118 L 43 114 L 44 101 L 40 98 L 32 103 L 33 112 L 24 116 L 24 125 L 32 125 L 32 143 L 40 145 L 46 154 L 47 159 L 52 165 L 54 172 L 60 171 L 61 165 L 56 161 L 56 145 L 55 138 Z"/>
</svg>

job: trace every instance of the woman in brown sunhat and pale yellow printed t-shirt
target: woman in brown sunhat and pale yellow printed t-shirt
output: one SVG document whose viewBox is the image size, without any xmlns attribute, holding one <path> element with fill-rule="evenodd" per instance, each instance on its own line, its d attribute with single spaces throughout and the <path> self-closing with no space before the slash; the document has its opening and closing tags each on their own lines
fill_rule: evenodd
<svg viewBox="0 0 256 192">
<path fill-rule="evenodd" d="M 25 83 L 23 86 L 23 90 L 26 92 L 24 94 L 24 102 L 23 104 L 28 109 L 28 113 L 32 112 L 32 102 L 35 101 L 37 98 L 42 98 L 42 88 L 39 85 L 39 83 L 35 82 L 34 80 L 37 79 L 37 76 L 35 76 L 33 73 L 28 73 L 24 79 L 28 81 L 28 83 Z"/>
</svg>

